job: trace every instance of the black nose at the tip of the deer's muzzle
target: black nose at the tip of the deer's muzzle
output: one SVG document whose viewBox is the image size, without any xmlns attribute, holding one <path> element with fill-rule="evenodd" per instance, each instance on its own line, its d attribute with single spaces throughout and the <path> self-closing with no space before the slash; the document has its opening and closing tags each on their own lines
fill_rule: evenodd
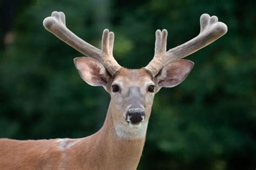
<svg viewBox="0 0 256 170">
<path fill-rule="evenodd" d="M 145 119 L 145 111 L 140 108 L 129 109 L 126 114 L 126 121 L 138 124 Z"/>
</svg>

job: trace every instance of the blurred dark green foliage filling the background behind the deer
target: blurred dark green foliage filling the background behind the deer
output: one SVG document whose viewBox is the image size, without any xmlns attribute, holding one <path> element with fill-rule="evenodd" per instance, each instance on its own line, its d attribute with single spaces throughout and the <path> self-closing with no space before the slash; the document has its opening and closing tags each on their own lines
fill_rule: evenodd
<svg viewBox="0 0 256 170">
<path fill-rule="evenodd" d="M 52 11 L 64 11 L 69 29 L 98 47 L 102 31 L 113 31 L 114 55 L 128 68 L 152 59 L 157 29 L 169 31 L 171 48 L 196 36 L 209 13 L 228 32 L 187 57 L 196 65 L 183 83 L 156 95 L 138 169 L 255 169 L 255 1 L 12 3 L 15 39 L 0 49 L 0 137 L 79 138 L 103 125 L 110 97 L 80 79 L 72 59 L 81 54 L 44 29 Z"/>
</svg>

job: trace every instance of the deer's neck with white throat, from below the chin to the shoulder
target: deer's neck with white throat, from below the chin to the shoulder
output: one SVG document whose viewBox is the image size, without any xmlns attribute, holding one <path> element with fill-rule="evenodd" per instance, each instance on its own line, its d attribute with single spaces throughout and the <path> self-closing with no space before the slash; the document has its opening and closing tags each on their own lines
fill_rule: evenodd
<svg viewBox="0 0 256 170">
<path fill-rule="evenodd" d="M 146 129 L 135 129 L 132 132 L 129 125 L 126 125 L 128 127 L 126 129 L 123 125 L 115 124 L 112 118 L 113 111 L 115 109 L 110 102 L 105 123 L 102 129 L 96 133 L 95 147 L 101 151 L 100 155 L 107 165 L 110 165 L 109 168 L 136 169 L 142 155 Z M 144 131 L 145 134 L 143 135 L 140 131 Z"/>
</svg>

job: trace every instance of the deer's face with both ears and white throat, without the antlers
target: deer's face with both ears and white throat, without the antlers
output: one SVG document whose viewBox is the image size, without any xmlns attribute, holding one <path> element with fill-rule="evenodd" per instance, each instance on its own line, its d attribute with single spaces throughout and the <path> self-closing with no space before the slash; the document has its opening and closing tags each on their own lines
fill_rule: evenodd
<svg viewBox="0 0 256 170">
<path fill-rule="evenodd" d="M 76 58 L 75 65 L 82 79 L 92 86 L 103 86 L 111 95 L 111 116 L 119 137 L 145 137 L 154 94 L 161 87 L 174 87 L 182 82 L 193 62 L 178 60 L 169 63 L 156 76 L 149 70 L 120 68 L 114 76 L 96 60 Z"/>
</svg>

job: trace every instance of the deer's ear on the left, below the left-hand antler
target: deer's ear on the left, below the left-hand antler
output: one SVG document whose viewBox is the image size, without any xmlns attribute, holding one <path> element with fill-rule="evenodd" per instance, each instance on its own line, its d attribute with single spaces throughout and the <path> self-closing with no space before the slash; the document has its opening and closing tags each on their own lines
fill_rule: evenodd
<svg viewBox="0 0 256 170">
<path fill-rule="evenodd" d="M 95 59 L 78 57 L 74 62 L 82 79 L 91 86 L 105 86 L 111 77 L 102 64 Z"/>
</svg>

